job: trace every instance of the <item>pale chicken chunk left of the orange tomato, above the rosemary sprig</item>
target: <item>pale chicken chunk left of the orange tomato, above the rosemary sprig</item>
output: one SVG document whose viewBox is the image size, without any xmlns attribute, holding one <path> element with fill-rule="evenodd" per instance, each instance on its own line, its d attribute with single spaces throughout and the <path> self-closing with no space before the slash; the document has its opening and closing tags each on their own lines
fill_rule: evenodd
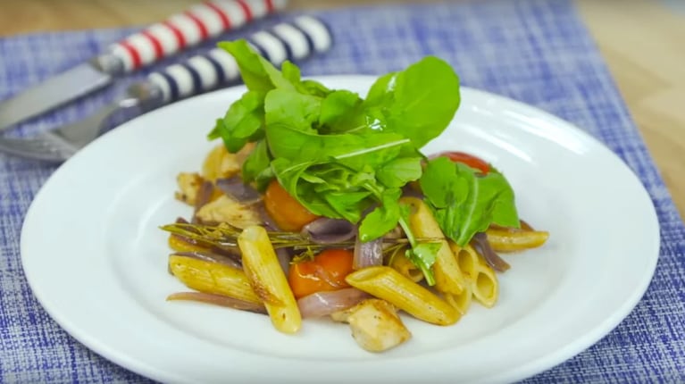
<svg viewBox="0 0 685 384">
<path fill-rule="evenodd" d="M 197 210 L 196 216 L 205 223 L 228 222 L 230 225 L 245 229 L 250 225 L 259 225 L 262 218 L 251 205 L 245 205 L 230 196 L 221 196 Z"/>
</svg>

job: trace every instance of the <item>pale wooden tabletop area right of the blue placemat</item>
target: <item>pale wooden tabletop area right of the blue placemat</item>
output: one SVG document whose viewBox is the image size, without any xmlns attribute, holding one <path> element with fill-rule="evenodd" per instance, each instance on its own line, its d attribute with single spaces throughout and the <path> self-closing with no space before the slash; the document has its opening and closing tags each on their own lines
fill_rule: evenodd
<svg viewBox="0 0 685 384">
<path fill-rule="evenodd" d="M 655 2 L 615 6 L 581 0 L 579 5 L 685 217 L 685 14 Z"/>
</svg>

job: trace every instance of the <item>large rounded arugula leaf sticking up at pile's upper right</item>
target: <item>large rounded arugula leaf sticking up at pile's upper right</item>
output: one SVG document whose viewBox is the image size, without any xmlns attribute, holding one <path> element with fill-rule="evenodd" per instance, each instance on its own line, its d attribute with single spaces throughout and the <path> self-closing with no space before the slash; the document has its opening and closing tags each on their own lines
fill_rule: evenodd
<svg viewBox="0 0 685 384">
<path fill-rule="evenodd" d="M 427 56 L 405 71 L 378 79 L 364 107 L 370 121 L 410 138 L 414 147 L 421 148 L 452 121 L 460 101 L 455 71 L 439 58 Z"/>
</svg>

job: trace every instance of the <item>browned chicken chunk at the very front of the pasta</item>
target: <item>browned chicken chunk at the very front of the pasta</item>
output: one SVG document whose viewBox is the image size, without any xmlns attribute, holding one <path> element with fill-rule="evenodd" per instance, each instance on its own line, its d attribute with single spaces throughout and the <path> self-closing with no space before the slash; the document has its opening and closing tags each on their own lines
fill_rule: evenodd
<svg viewBox="0 0 685 384">
<path fill-rule="evenodd" d="M 363 349 L 382 352 L 412 337 L 397 315 L 397 308 L 385 300 L 370 298 L 354 307 L 333 313 L 335 321 L 347 322 L 352 337 Z"/>
</svg>

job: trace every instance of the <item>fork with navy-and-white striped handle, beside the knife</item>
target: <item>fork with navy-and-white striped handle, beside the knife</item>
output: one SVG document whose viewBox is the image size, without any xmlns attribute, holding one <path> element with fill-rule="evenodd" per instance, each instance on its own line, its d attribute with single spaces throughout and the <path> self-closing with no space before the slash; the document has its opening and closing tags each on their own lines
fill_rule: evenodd
<svg viewBox="0 0 685 384">
<path fill-rule="evenodd" d="M 313 16 L 299 16 L 264 29 L 246 39 L 266 60 L 279 66 L 297 62 L 330 49 L 330 29 Z M 233 56 L 220 48 L 150 73 L 132 84 L 126 94 L 105 105 L 90 117 L 32 138 L 0 136 L 0 151 L 61 163 L 99 137 L 115 117 L 139 115 L 181 98 L 204 93 L 219 86 L 238 84 L 240 74 Z"/>
</svg>

